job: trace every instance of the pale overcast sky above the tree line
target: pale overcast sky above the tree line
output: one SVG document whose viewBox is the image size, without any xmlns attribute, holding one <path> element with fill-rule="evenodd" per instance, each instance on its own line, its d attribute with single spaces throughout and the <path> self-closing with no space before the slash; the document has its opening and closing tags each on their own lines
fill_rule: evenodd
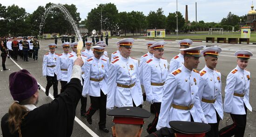
<svg viewBox="0 0 256 137">
<path fill-rule="evenodd" d="M 53 0 L 1 0 L 4 6 L 18 5 L 33 13 L 38 6 L 45 6 Z M 176 0 L 54 0 L 54 3 L 74 4 L 80 12 L 81 19 L 87 18 L 88 12 L 97 7 L 96 4 L 114 3 L 118 12 L 140 11 L 148 15 L 150 11 L 156 11 L 159 7 L 168 16 L 169 12 L 176 11 Z M 178 11 L 185 18 L 185 5 L 188 5 L 189 20 L 195 21 L 195 2 L 197 2 L 197 21 L 220 22 L 229 12 L 242 16 L 250 10 L 252 0 L 178 0 Z M 255 0 L 256 5 L 256 0 Z M 256 7 L 256 6 L 255 6 Z"/>
</svg>

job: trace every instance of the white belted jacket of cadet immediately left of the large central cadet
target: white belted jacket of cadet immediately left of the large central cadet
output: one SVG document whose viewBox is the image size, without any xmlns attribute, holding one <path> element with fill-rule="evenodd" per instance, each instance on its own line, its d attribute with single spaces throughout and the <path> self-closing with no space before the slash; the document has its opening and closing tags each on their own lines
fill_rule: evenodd
<svg viewBox="0 0 256 137">
<path fill-rule="evenodd" d="M 104 55 L 103 55 L 104 56 Z M 101 96 L 101 90 L 106 95 L 108 93 L 108 61 L 94 56 L 85 62 L 85 78 L 82 96 L 86 97 L 87 94 L 94 97 Z M 93 79 L 102 79 L 102 81 L 92 81 Z"/>
</svg>

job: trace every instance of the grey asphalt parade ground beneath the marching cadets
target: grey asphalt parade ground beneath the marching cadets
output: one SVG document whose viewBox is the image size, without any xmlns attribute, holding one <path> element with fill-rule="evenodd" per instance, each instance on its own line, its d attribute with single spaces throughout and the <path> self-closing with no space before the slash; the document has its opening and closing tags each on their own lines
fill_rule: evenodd
<svg viewBox="0 0 256 137">
<path fill-rule="evenodd" d="M 90 38 L 88 40 L 91 40 Z M 112 38 L 108 40 L 108 47 L 106 50 L 108 51 L 108 56 L 111 56 L 111 53 L 117 50 L 116 42 L 120 39 Z M 104 39 L 105 41 L 105 39 Z M 135 43 L 132 48 L 131 56 L 135 57 L 136 59 L 140 59 L 140 57 L 148 52 L 146 43 L 148 41 L 152 40 L 145 40 L 145 39 L 135 39 Z M 177 41 L 166 41 L 168 44 L 165 45 L 164 48 L 164 58 L 170 62 L 170 60 L 176 56 L 179 53 L 179 45 L 177 44 Z M 41 106 L 42 104 L 49 103 L 53 100 L 53 87 L 50 88 L 50 94 L 49 96 L 46 96 L 44 91 L 47 84 L 46 77 L 42 76 L 42 61 L 43 56 L 46 54 L 49 49 L 47 47 L 48 44 L 54 43 L 53 40 L 41 40 L 40 41 L 40 50 L 38 53 L 38 61 L 35 62 L 34 59 L 29 58 L 29 62 L 23 62 L 22 59 L 18 56 L 18 61 L 13 61 L 12 59 L 7 59 L 6 66 L 8 69 L 11 69 L 10 71 L 4 71 L 0 72 L 0 117 L 2 118 L 5 113 L 8 112 L 9 106 L 13 103 L 13 98 L 11 97 L 11 94 L 9 92 L 8 88 L 8 78 L 9 75 L 14 72 L 18 71 L 20 69 L 27 69 L 38 81 L 38 83 L 41 85 L 40 90 L 40 97 L 39 97 L 39 103 L 37 106 Z M 63 52 L 61 48 L 61 40 L 58 40 L 58 48 L 56 48 L 55 52 L 61 54 Z M 247 125 L 246 125 L 246 131 L 244 137 L 256 137 L 256 45 L 253 44 L 217 44 L 217 43 L 202 43 L 202 42 L 194 42 L 193 47 L 200 46 L 200 45 L 218 45 L 222 48 L 222 52 L 220 53 L 218 64 L 216 69 L 219 70 L 222 74 L 222 98 L 224 98 L 224 88 L 226 86 L 226 78 L 229 72 L 236 67 L 236 57 L 234 56 L 234 53 L 237 50 L 249 50 L 251 51 L 254 56 L 252 56 L 249 59 L 249 65 L 246 69 L 250 71 L 250 93 L 249 93 L 249 102 L 252 106 L 253 111 L 247 111 Z M 83 48 L 84 49 L 84 48 Z M 70 51 L 72 49 L 70 48 Z M 205 62 L 203 57 L 200 59 L 199 66 L 197 70 L 201 70 L 205 66 Z M 2 66 L 0 66 L 2 69 Z M 61 83 L 58 84 L 58 90 L 60 93 L 61 89 Z M 142 91 L 144 92 L 144 91 Z M 88 97 L 87 100 L 87 109 L 90 106 L 90 99 Z M 100 131 L 98 128 L 98 122 L 99 122 L 99 111 L 97 111 L 93 119 L 93 124 L 89 125 L 86 121 L 86 118 L 82 118 L 80 116 L 80 107 L 81 103 L 78 103 L 77 109 L 76 109 L 76 117 L 74 122 L 74 130 L 72 137 L 112 137 L 112 130 L 111 126 L 113 125 L 112 117 L 107 116 L 107 124 L 106 127 L 109 129 L 109 133 L 104 133 L 103 131 Z M 143 103 L 143 108 L 150 111 L 150 105 L 147 102 Z M 146 129 L 150 122 L 152 122 L 154 118 L 154 115 L 152 114 L 150 118 L 144 119 L 145 124 L 143 125 L 143 132 L 142 136 L 144 137 L 148 135 Z M 40 123 L 39 123 L 40 124 Z M 226 125 L 232 124 L 232 120 L 229 116 L 229 114 L 224 112 L 224 118 L 220 122 L 219 129 Z M 47 131 L 46 131 L 47 132 Z M 0 135 L 2 136 L 2 131 L 0 131 Z"/>
</svg>

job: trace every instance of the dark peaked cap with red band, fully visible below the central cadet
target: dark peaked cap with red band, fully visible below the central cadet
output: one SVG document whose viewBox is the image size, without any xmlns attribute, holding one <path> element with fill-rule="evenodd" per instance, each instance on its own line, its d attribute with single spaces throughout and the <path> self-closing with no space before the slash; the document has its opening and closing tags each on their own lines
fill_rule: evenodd
<svg viewBox="0 0 256 137">
<path fill-rule="evenodd" d="M 108 116 L 113 116 L 116 124 L 143 125 L 143 118 L 149 118 L 151 113 L 140 107 L 119 107 L 107 112 Z"/>
</svg>

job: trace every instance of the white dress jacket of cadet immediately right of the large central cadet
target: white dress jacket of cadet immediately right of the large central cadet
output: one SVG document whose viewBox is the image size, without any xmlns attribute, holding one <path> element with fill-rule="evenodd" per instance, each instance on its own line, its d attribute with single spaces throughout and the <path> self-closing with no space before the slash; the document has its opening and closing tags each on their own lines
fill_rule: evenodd
<svg viewBox="0 0 256 137">
<path fill-rule="evenodd" d="M 143 85 L 148 101 L 162 102 L 163 85 L 153 86 L 151 83 L 164 83 L 168 75 L 168 62 L 153 56 L 143 65 Z"/>
</svg>

